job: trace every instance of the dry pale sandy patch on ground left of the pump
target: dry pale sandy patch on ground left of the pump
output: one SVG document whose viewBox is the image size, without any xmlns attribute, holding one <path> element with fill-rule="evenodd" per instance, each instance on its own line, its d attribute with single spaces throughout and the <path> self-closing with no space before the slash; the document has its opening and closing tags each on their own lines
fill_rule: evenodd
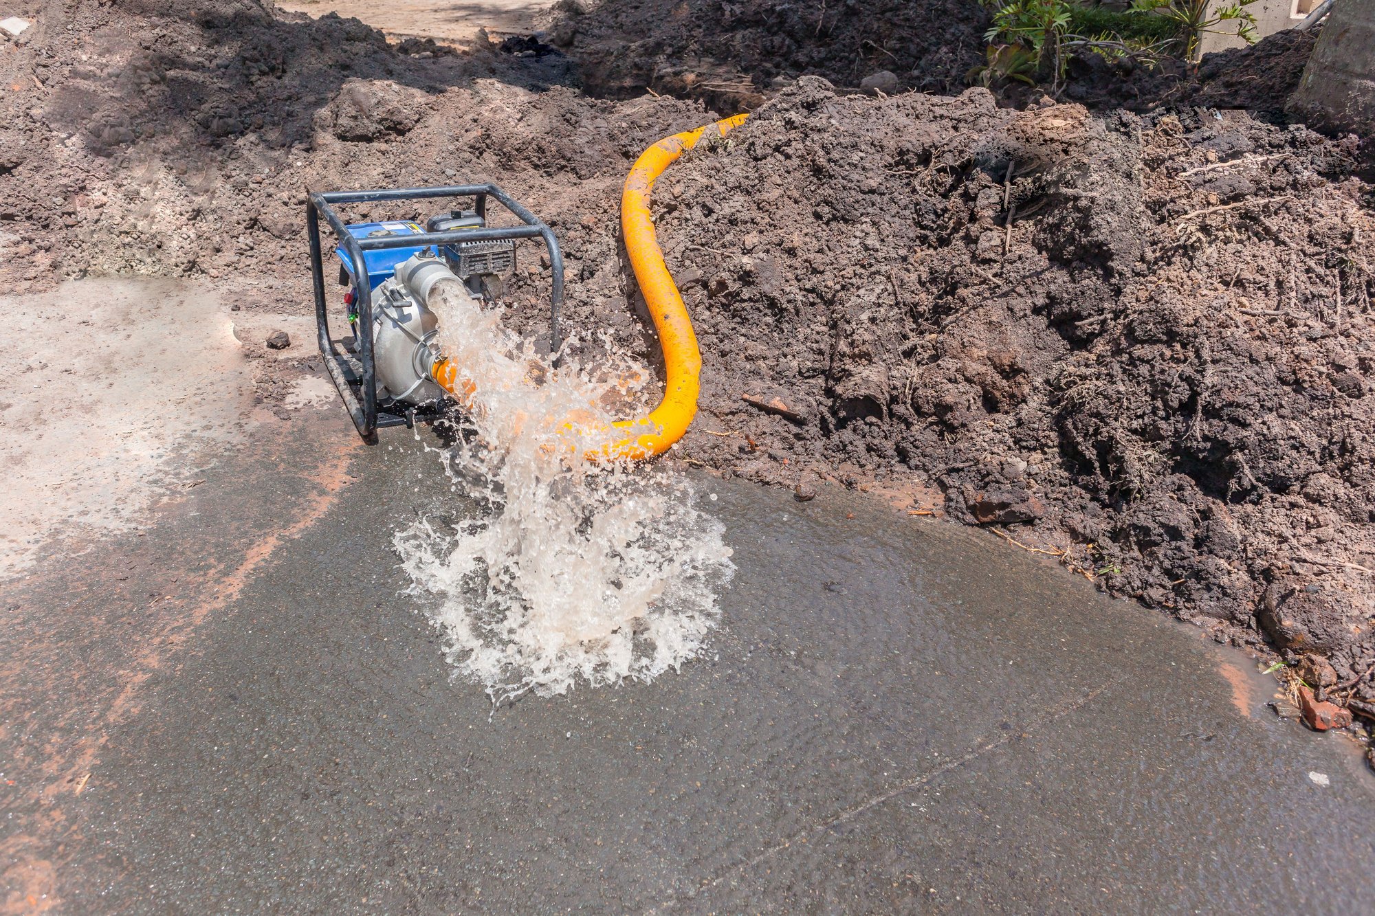
<svg viewBox="0 0 1375 916">
<path fill-rule="evenodd" d="M 239 439 L 252 375 L 219 296 L 172 279 L 0 297 L 0 579 L 58 535 L 128 530 Z"/>
</svg>

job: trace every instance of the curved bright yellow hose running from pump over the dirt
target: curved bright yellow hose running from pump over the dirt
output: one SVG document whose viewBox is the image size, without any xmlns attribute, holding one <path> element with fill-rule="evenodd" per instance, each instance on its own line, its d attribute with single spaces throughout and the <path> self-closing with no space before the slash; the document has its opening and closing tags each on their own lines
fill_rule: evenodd
<svg viewBox="0 0 1375 916">
<path fill-rule="evenodd" d="M 650 426 L 656 432 L 622 439 L 590 451 L 586 455 L 588 461 L 608 458 L 644 461 L 661 455 L 683 437 L 688 425 L 697 414 L 701 351 L 697 348 L 697 336 L 692 330 L 692 319 L 688 318 L 688 307 L 683 305 L 682 296 L 678 294 L 678 286 L 664 264 L 664 253 L 659 248 L 659 239 L 654 238 L 654 221 L 649 215 L 649 193 L 654 188 L 654 179 L 663 175 L 664 169 L 679 155 L 697 146 L 697 140 L 710 128 L 716 128 L 718 136 L 726 136 L 747 117 L 749 116 L 737 114 L 696 131 L 666 136 L 641 153 L 635 165 L 631 166 L 630 175 L 626 176 L 626 188 L 620 195 L 620 231 L 626 241 L 630 264 L 635 270 L 639 292 L 645 296 L 649 315 L 659 331 L 659 347 L 664 353 L 664 397 L 648 417 L 622 419 L 613 424 L 617 429 Z M 443 358 L 436 360 L 432 375 L 459 403 L 465 406 L 472 403 L 476 386 L 470 380 L 459 377 L 458 367 L 452 362 Z"/>
</svg>

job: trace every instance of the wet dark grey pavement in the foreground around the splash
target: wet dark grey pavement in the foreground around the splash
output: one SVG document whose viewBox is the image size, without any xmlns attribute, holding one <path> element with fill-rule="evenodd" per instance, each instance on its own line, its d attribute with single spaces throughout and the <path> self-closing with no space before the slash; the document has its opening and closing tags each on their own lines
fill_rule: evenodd
<svg viewBox="0 0 1375 916">
<path fill-rule="evenodd" d="M 324 417 L 109 546 L 110 561 L 162 558 L 146 591 L 199 569 L 179 576 L 182 605 L 111 613 L 129 596 L 91 585 L 99 552 L 7 591 L 18 626 L 0 648 L 28 652 L 4 675 L 19 725 L 0 732 L 15 904 L 1370 899 L 1375 780 L 1341 737 L 1264 711 L 1273 685 L 1246 659 L 979 532 L 843 491 L 798 503 L 701 477 L 738 567 L 707 657 L 494 712 L 451 679 L 424 600 L 400 594 L 392 531 L 452 499 L 439 464 L 404 433 L 355 447 Z M 84 600 L 59 601 L 82 582 Z"/>
</svg>

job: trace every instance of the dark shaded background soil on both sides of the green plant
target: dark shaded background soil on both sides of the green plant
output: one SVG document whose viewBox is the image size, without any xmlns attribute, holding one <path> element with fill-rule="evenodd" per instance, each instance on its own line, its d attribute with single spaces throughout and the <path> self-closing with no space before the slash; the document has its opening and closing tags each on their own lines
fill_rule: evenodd
<svg viewBox="0 0 1375 916">
<path fill-rule="evenodd" d="M 681 0 L 667 11 L 645 0 L 562 0 L 553 8 L 549 37 L 578 61 L 588 92 L 624 98 L 648 88 L 737 111 L 758 107 L 803 74 L 861 88 L 865 77 L 888 72 L 892 78 L 873 83 L 890 95 L 958 92 L 983 62 L 987 28 L 987 10 L 972 0 Z M 1199 65 L 1165 61 L 1145 67 L 1081 54 L 1063 96 L 1099 111 L 1202 105 L 1248 109 L 1279 122 L 1316 37 L 1317 30 L 1284 30 L 1255 45 L 1204 55 Z M 1013 83 L 1001 103 L 1026 107 L 1041 95 Z"/>
</svg>

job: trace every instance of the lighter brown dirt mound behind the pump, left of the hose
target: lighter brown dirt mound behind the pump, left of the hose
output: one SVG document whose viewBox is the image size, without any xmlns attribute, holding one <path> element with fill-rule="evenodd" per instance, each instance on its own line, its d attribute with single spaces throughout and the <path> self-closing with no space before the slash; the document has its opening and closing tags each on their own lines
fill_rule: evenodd
<svg viewBox="0 0 1375 916">
<path fill-rule="evenodd" d="M 0 270 L 21 290 L 85 272 L 300 285 L 307 187 L 461 176 L 613 199 L 644 146 L 705 118 L 584 99 L 557 55 L 407 55 L 356 19 L 250 0 L 62 6 L 4 62 L 0 231 L 19 238 Z"/>
</svg>

